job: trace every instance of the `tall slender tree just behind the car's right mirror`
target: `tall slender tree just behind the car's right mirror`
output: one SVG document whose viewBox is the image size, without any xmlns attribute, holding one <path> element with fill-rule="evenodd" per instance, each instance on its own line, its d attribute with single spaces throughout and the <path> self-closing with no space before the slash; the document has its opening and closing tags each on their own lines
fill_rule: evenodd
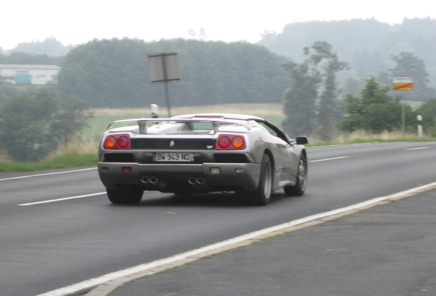
<svg viewBox="0 0 436 296">
<path fill-rule="evenodd" d="M 284 65 L 291 74 L 291 87 L 284 98 L 287 119 L 283 127 L 292 136 L 317 134 L 322 140 L 331 140 L 341 116 L 336 73 L 347 64 L 339 61 L 325 41 L 317 41 L 303 51 L 304 62 Z"/>
</svg>

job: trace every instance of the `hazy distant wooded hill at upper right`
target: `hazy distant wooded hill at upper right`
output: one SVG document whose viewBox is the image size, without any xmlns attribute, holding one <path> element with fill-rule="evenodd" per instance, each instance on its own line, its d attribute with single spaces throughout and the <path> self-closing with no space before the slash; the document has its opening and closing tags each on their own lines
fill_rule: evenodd
<svg viewBox="0 0 436 296">
<path fill-rule="evenodd" d="M 424 60 L 431 85 L 436 86 L 436 20 L 404 19 L 400 25 L 380 23 L 374 19 L 349 21 L 311 21 L 291 23 L 280 34 L 267 34 L 259 45 L 275 53 L 302 60 L 302 49 L 315 41 L 327 41 L 352 71 L 377 76 L 393 68 L 390 59 L 402 51 Z"/>
</svg>

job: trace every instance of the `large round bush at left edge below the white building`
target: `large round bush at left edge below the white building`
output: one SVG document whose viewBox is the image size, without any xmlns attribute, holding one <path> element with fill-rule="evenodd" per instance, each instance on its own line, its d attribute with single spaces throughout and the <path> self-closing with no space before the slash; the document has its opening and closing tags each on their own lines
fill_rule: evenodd
<svg viewBox="0 0 436 296">
<path fill-rule="evenodd" d="M 17 162 L 38 161 L 56 150 L 88 118 L 80 103 L 59 108 L 51 88 L 10 99 L 0 109 L 2 148 Z"/>
</svg>

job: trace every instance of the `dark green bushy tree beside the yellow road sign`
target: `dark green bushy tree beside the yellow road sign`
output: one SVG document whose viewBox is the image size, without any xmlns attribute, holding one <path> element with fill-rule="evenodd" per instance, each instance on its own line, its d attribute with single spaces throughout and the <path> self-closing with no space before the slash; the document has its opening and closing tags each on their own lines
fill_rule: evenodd
<svg viewBox="0 0 436 296">
<path fill-rule="evenodd" d="M 343 132 L 364 130 L 374 134 L 401 129 L 401 103 L 389 96 L 389 87 L 380 86 L 374 77 L 367 80 L 361 98 L 348 95 L 346 98 L 346 117 L 339 122 Z M 416 113 L 410 106 L 404 106 L 406 125 L 413 128 Z"/>
</svg>

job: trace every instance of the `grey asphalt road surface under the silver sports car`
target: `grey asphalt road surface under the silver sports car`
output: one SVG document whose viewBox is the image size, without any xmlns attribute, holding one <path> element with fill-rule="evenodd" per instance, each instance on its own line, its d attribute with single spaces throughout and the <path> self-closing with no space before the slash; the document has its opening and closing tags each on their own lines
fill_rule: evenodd
<svg viewBox="0 0 436 296">
<path fill-rule="evenodd" d="M 0 174 L 0 295 L 34 296 L 247 232 L 434 182 L 436 143 L 308 149 L 304 197 L 145 193 L 114 206 L 95 168 Z M 47 174 L 50 173 L 50 174 Z M 32 176 L 28 176 L 32 175 Z"/>
</svg>

